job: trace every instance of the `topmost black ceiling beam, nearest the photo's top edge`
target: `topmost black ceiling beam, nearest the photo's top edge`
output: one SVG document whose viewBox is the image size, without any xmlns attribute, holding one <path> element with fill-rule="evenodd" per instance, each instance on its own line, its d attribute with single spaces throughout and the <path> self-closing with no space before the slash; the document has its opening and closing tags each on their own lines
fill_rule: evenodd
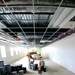
<svg viewBox="0 0 75 75">
<path fill-rule="evenodd" d="M 75 3 L 75 2 L 74 2 Z M 32 6 L 32 4 L 8 4 L 9 7 L 21 7 L 21 6 Z M 58 7 L 59 4 L 34 4 L 34 6 L 51 6 L 51 7 Z M 0 7 L 5 7 L 4 4 L 0 5 Z M 75 8 L 74 4 L 62 4 L 61 7 L 71 7 Z"/>
</svg>

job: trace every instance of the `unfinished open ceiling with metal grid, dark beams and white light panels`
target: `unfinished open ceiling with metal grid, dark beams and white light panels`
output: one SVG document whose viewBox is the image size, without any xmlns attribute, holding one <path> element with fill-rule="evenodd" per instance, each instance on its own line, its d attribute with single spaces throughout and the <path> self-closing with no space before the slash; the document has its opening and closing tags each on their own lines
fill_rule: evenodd
<svg viewBox="0 0 75 75">
<path fill-rule="evenodd" d="M 74 8 L 74 0 L 0 0 L 1 30 L 43 47 L 75 27 Z"/>
</svg>

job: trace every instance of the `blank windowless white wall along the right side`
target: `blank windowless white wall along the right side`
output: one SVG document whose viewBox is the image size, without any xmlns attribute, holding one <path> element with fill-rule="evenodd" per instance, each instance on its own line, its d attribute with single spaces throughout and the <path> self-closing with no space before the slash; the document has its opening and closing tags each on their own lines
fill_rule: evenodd
<svg viewBox="0 0 75 75">
<path fill-rule="evenodd" d="M 44 56 L 75 73 L 75 34 L 42 48 Z"/>
</svg>

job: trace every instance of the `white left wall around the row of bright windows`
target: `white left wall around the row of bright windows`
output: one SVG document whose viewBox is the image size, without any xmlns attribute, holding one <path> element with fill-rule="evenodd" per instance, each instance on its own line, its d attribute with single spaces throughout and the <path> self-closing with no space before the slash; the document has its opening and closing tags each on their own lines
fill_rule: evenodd
<svg viewBox="0 0 75 75">
<path fill-rule="evenodd" d="M 4 60 L 5 64 L 10 64 L 10 63 L 14 62 L 15 60 L 23 58 L 26 55 L 25 51 L 27 51 L 27 50 L 23 46 L 12 45 L 12 44 L 2 42 L 2 41 L 0 41 L 0 46 L 5 47 L 5 51 L 6 51 L 5 58 L 2 58 L 1 49 L 0 49 L 0 60 Z M 13 48 L 13 52 L 14 52 L 13 56 L 11 56 L 10 47 Z M 16 51 L 18 51 L 18 54 L 16 54 Z M 19 53 L 19 51 L 21 51 L 21 54 Z"/>
</svg>

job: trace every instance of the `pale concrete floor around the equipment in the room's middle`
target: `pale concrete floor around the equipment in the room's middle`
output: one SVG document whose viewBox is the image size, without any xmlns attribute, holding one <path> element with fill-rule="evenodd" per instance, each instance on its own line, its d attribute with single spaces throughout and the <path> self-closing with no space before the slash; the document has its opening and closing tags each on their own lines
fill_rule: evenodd
<svg viewBox="0 0 75 75">
<path fill-rule="evenodd" d="M 75 75 L 74 73 L 68 71 L 67 69 L 61 67 L 60 65 L 50 61 L 49 59 L 44 59 L 47 67 L 47 72 L 42 72 L 41 75 Z M 23 64 L 24 67 L 27 68 L 27 73 L 25 75 L 38 75 L 37 71 L 32 71 L 28 68 L 28 59 L 27 57 L 24 57 L 16 62 L 14 64 Z"/>
</svg>

